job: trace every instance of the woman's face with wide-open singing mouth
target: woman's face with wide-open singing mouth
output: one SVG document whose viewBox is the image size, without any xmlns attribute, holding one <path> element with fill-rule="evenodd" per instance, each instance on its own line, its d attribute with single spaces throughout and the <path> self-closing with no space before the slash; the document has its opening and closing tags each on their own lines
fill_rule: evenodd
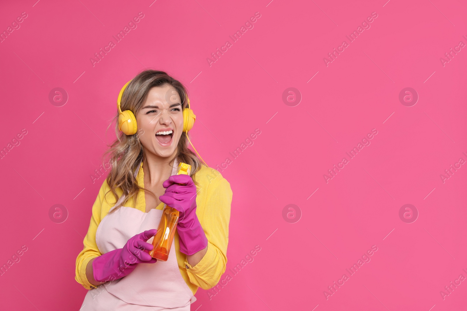
<svg viewBox="0 0 467 311">
<path fill-rule="evenodd" d="M 177 90 L 170 84 L 151 88 L 136 123 L 145 152 L 163 158 L 175 154 L 183 131 L 182 102 Z"/>
</svg>

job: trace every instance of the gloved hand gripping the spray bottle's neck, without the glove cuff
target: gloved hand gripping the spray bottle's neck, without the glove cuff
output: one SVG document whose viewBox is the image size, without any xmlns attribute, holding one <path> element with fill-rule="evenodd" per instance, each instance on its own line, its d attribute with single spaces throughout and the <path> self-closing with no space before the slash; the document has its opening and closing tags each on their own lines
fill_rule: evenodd
<svg viewBox="0 0 467 311">
<path fill-rule="evenodd" d="M 182 184 L 182 185 L 180 185 Z M 183 223 L 191 211 L 196 210 L 196 185 L 190 175 L 172 175 L 162 184 L 165 193 L 159 200 L 180 212 L 178 222 Z"/>
</svg>

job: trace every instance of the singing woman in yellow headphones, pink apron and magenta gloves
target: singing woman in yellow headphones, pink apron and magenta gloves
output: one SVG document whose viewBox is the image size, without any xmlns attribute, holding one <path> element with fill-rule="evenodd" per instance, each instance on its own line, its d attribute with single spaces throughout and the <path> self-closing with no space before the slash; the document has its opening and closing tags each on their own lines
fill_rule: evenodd
<svg viewBox="0 0 467 311">
<path fill-rule="evenodd" d="M 232 190 L 187 147 L 189 103 L 163 71 L 142 71 L 120 91 L 112 168 L 76 259 L 75 279 L 88 289 L 80 311 L 190 310 L 198 287 L 226 270 Z M 176 175 L 180 162 L 191 175 Z M 149 255 L 164 203 L 180 212 L 166 262 Z"/>
</svg>

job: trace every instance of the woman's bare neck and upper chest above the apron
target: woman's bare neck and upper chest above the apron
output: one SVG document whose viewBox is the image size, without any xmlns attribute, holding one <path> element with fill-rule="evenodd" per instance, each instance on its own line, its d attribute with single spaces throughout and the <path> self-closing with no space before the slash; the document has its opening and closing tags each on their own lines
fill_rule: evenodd
<svg viewBox="0 0 467 311">
<path fill-rule="evenodd" d="M 149 187 L 162 184 L 172 174 L 172 168 L 175 160 L 174 155 L 163 158 L 150 152 L 145 152 L 143 160 L 144 182 Z"/>
</svg>

